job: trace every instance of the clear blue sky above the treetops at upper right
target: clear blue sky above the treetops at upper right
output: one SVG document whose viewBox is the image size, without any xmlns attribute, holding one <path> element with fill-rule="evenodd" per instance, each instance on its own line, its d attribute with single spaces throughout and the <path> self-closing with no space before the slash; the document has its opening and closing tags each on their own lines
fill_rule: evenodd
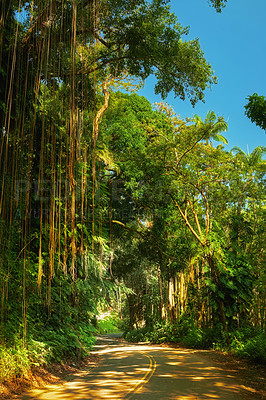
<svg viewBox="0 0 266 400">
<path fill-rule="evenodd" d="M 194 108 L 189 100 L 170 94 L 165 100 L 182 118 L 198 114 L 205 119 L 209 110 L 223 116 L 229 130 L 227 150 L 233 146 L 251 152 L 266 146 L 266 133 L 244 114 L 246 97 L 253 93 L 266 96 L 266 0 L 228 0 L 221 14 L 207 0 L 171 0 L 171 10 L 183 26 L 190 26 L 186 38 L 199 38 L 206 60 L 211 64 L 218 84 L 205 93 L 205 104 Z M 139 91 L 151 103 L 161 101 L 154 94 L 149 78 Z"/>
</svg>

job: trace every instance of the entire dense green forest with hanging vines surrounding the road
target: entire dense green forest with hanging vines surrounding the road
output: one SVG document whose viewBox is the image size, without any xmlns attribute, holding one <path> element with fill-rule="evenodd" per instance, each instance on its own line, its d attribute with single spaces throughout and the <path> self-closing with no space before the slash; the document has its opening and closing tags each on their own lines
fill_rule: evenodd
<svg viewBox="0 0 266 400">
<path fill-rule="evenodd" d="M 80 356 L 106 307 L 131 330 L 265 328 L 265 148 L 136 94 L 153 74 L 194 105 L 216 82 L 167 3 L 1 3 L 3 348 Z"/>
</svg>

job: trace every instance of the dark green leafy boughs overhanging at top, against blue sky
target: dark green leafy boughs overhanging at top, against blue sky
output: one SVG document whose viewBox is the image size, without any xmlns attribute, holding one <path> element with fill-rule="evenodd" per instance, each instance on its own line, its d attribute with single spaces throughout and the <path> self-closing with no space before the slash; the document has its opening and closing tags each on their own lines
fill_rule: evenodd
<svg viewBox="0 0 266 400">
<path fill-rule="evenodd" d="M 163 98 L 173 91 L 181 99 L 188 96 L 195 104 L 216 82 L 198 40 L 181 40 L 188 29 L 180 25 L 165 1 L 139 0 L 122 7 L 112 1 L 99 29 L 104 36 L 102 43 L 110 43 L 101 48 L 100 64 L 108 63 L 114 75 L 126 70 L 146 79 L 154 74 L 155 92 Z"/>
</svg>

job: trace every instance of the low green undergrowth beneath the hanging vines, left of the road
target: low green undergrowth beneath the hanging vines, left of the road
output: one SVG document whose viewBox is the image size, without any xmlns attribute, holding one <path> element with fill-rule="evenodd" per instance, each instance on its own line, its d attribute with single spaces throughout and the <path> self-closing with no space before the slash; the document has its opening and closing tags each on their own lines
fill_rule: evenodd
<svg viewBox="0 0 266 400">
<path fill-rule="evenodd" d="M 28 338 L 25 345 L 17 339 L 17 332 L 23 330 L 21 304 L 18 302 L 22 296 L 21 286 L 13 286 L 13 296 L 4 309 L 5 323 L 1 326 L 1 339 L 6 345 L 2 348 L 1 362 L 6 366 L 3 367 L 3 379 L 22 376 L 32 365 L 61 362 L 68 357 L 85 357 L 95 343 L 95 328 L 91 319 L 96 312 L 100 285 L 102 287 L 95 265 L 92 263 L 88 267 L 86 278 L 85 271 L 80 270 L 80 277 L 75 284 L 69 276 L 58 270 L 51 284 L 49 307 L 43 301 L 42 293 L 39 295 L 37 291 L 35 257 L 32 253 L 27 262 L 27 283 L 31 290 L 26 288 Z M 10 257 L 9 276 L 14 282 L 17 281 L 17 275 L 21 279 L 22 272 L 23 263 L 16 260 L 13 263 Z M 41 287 L 44 293 L 46 283 L 44 277 Z"/>
</svg>

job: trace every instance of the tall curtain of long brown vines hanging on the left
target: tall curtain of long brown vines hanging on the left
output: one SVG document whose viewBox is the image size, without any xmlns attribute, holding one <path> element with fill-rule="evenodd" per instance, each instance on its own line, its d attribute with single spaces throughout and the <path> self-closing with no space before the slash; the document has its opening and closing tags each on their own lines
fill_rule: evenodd
<svg viewBox="0 0 266 400">
<path fill-rule="evenodd" d="M 2 1 L 1 327 L 12 314 L 24 338 L 29 296 L 49 318 L 57 276 L 58 295 L 66 279 L 77 304 L 77 280 L 95 259 L 96 147 L 108 94 L 99 106 L 96 72 L 79 71 L 95 61 L 96 30 L 95 1 Z"/>
</svg>

